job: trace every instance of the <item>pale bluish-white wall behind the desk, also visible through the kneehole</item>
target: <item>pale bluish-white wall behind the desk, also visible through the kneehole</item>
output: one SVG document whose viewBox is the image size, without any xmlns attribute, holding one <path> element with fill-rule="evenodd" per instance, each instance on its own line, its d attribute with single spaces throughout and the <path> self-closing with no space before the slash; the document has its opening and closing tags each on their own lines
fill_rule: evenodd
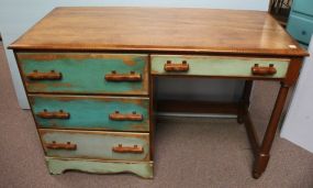
<svg viewBox="0 0 313 188">
<path fill-rule="evenodd" d="M 183 7 L 267 11 L 268 4 L 268 0 L 0 0 L 0 32 L 7 48 L 55 7 Z M 21 108 L 27 109 L 29 103 L 13 53 L 5 49 L 5 54 L 19 103 Z M 236 100 L 241 88 L 242 81 L 234 80 L 158 80 L 158 97 L 213 101 Z"/>
</svg>

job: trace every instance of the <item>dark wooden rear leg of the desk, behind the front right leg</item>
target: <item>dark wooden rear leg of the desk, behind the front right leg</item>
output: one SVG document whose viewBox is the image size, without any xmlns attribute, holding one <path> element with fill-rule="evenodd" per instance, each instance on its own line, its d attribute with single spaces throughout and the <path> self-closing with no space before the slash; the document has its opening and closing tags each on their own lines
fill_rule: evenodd
<svg viewBox="0 0 313 188">
<path fill-rule="evenodd" d="M 247 112 L 246 109 L 249 108 L 251 88 L 253 88 L 253 81 L 246 80 L 242 99 L 238 102 L 237 122 L 241 124 L 244 123 L 244 117 L 246 115 L 246 112 Z"/>
</svg>

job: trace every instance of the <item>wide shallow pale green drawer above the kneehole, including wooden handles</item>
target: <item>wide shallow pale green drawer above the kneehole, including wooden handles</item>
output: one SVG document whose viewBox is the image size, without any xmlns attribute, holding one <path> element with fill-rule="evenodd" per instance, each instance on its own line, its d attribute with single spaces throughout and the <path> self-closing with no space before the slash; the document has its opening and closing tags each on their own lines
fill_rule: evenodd
<svg viewBox="0 0 313 188">
<path fill-rule="evenodd" d="M 255 64 L 257 70 L 253 74 Z M 273 65 L 276 70 L 272 74 Z M 260 77 L 283 78 L 287 74 L 289 59 L 265 59 L 245 57 L 217 56 L 152 56 L 153 75 L 190 75 L 212 77 Z M 166 70 L 167 69 L 167 70 Z"/>
</svg>

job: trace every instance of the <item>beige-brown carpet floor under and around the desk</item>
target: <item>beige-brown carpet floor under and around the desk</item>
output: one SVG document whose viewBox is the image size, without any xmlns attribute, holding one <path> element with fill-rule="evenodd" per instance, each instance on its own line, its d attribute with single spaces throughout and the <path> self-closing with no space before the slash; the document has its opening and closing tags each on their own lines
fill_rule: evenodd
<svg viewBox="0 0 313 188">
<path fill-rule="evenodd" d="M 278 85 L 257 82 L 255 123 L 264 132 Z M 31 112 L 21 110 L 0 49 L 0 188 L 9 187 L 239 187 L 312 188 L 313 154 L 276 137 L 267 172 L 250 176 L 253 155 L 243 125 L 234 119 L 160 118 L 155 178 L 69 172 L 51 176 Z"/>
</svg>

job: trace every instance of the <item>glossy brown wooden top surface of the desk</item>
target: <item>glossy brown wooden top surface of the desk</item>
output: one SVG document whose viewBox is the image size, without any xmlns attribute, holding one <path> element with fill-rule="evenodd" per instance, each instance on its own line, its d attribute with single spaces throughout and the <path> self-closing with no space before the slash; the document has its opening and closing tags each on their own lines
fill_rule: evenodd
<svg viewBox="0 0 313 188">
<path fill-rule="evenodd" d="M 267 12 L 181 8 L 56 8 L 9 47 L 308 55 Z"/>
</svg>

